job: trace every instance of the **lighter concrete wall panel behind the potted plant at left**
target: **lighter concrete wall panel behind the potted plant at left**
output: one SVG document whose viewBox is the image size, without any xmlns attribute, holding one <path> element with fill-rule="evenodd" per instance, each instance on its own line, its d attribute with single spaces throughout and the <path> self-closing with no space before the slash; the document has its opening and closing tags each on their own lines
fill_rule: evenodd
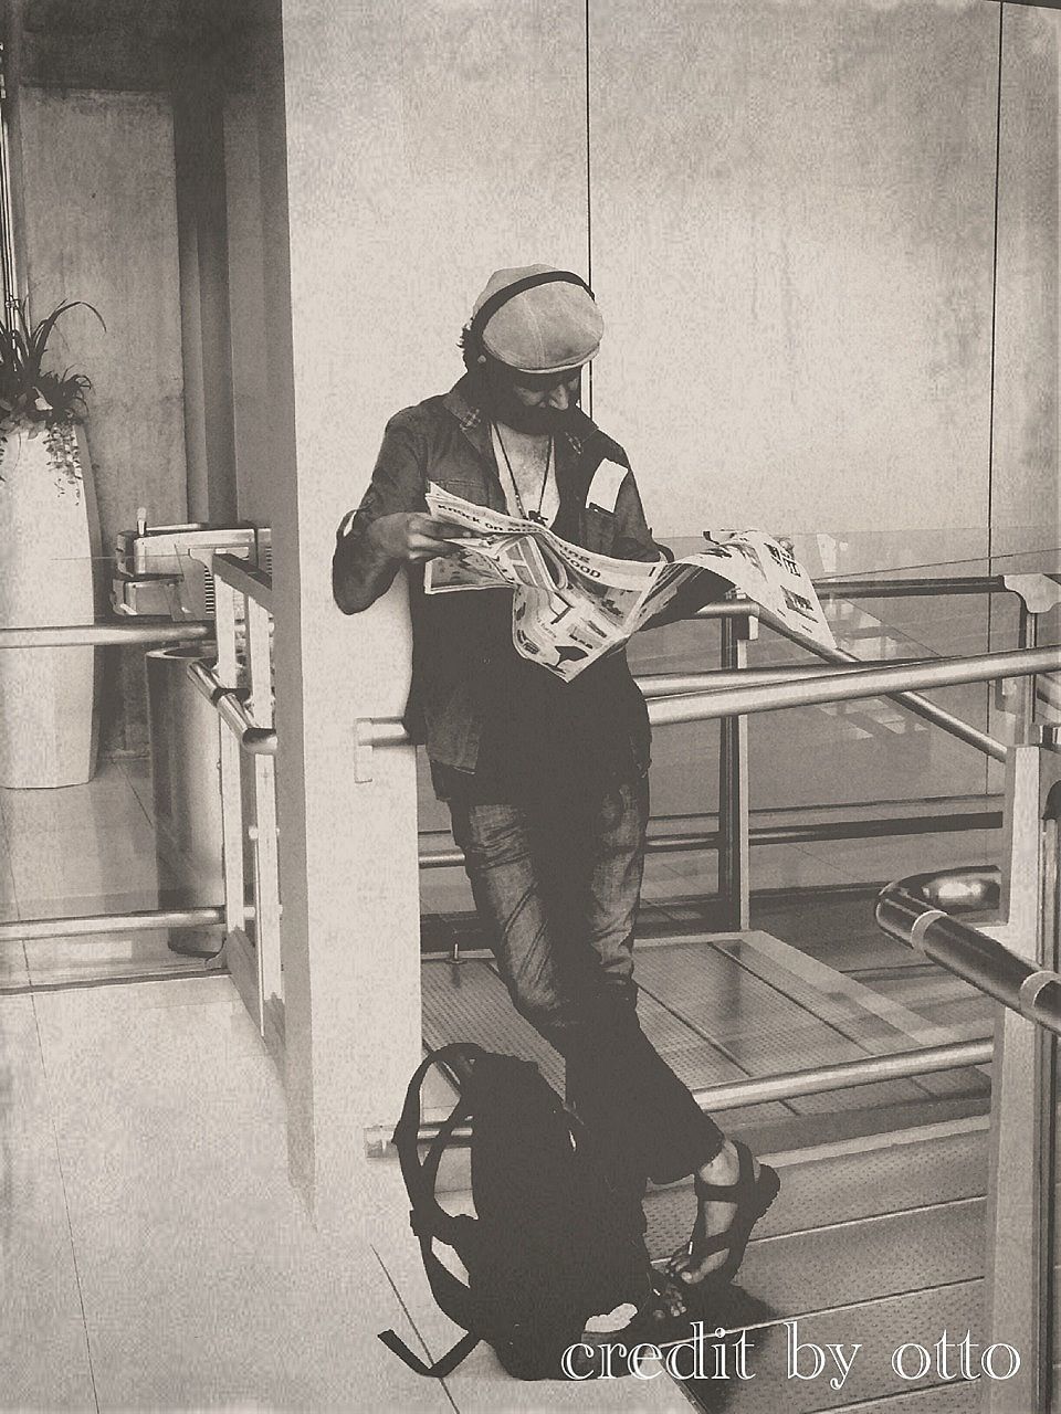
<svg viewBox="0 0 1061 1414">
<path fill-rule="evenodd" d="M 103 551 L 147 506 L 187 513 L 173 116 L 156 93 L 21 92 L 25 277 L 34 315 L 88 300 L 57 325 L 52 363 L 92 378 L 88 443 Z M 47 570 L 47 529 L 41 539 Z M 108 650 L 100 748 L 143 749 L 143 662 Z"/>
</svg>

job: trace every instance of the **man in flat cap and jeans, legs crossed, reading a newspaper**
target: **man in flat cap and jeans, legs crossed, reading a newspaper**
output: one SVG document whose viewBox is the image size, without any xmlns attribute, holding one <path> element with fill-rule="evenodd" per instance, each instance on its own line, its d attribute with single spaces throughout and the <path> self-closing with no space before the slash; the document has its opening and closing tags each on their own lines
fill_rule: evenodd
<svg viewBox="0 0 1061 1414">
<path fill-rule="evenodd" d="M 625 452 L 577 406 L 601 332 L 594 297 L 576 274 L 529 266 L 491 276 L 461 337 L 465 376 L 388 423 L 371 485 L 338 527 L 332 585 L 340 608 L 356 614 L 399 566 L 409 567 L 406 725 L 426 744 L 512 1001 L 564 1058 L 569 1103 L 608 1165 L 617 1251 L 601 1253 L 601 1263 L 627 1254 L 617 1304 L 639 1307 L 638 1328 L 654 1329 L 683 1316 L 692 1288 L 733 1277 L 777 1178 L 700 1111 L 638 1024 L 632 945 L 648 714 L 625 635 L 620 646 L 590 650 L 597 618 L 604 626 L 622 621 L 654 585 L 644 571 L 658 575 L 671 556 L 645 523 Z M 439 496 L 450 498 L 444 510 Z M 461 556 L 465 543 L 474 547 L 475 526 L 453 518 L 457 502 L 540 534 L 525 533 L 505 557 L 501 587 L 424 594 L 426 563 L 436 591 L 447 575 L 450 587 L 475 577 L 474 559 Z M 566 642 L 566 660 L 579 665 L 573 676 L 543 667 L 535 660 L 542 653 L 514 639 L 518 584 L 540 594 L 545 573 L 567 602 L 559 581 L 572 557 L 553 540 L 634 571 L 631 584 L 618 575 L 605 588 L 600 614 L 583 614 Z M 693 592 L 668 611 L 688 612 L 731 583 L 699 567 Z M 654 1292 L 645 1181 L 689 1175 L 690 1237 Z"/>
</svg>

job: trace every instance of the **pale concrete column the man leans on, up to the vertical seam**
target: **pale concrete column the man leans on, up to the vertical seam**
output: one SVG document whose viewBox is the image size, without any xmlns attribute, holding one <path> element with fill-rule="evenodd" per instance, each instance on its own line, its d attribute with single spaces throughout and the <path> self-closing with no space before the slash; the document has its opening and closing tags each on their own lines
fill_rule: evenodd
<svg viewBox="0 0 1061 1414">
<path fill-rule="evenodd" d="M 388 417 L 461 375 L 489 273 L 584 267 L 584 6 L 282 11 L 286 105 L 266 98 L 259 136 L 270 441 L 290 447 L 272 488 L 287 1093 L 293 1169 L 341 1226 L 365 1191 L 362 1130 L 396 1120 L 420 1052 L 420 993 L 413 754 L 376 749 L 364 783 L 354 768 L 355 721 L 405 706 L 405 584 L 344 618 L 334 533 Z"/>
</svg>

